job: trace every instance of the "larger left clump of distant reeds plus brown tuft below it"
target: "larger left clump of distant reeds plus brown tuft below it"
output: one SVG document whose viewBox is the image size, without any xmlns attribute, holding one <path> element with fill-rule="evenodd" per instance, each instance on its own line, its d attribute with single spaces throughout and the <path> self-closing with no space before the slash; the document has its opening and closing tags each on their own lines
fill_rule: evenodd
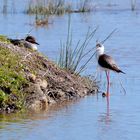
<svg viewBox="0 0 140 140">
<path fill-rule="evenodd" d="M 27 14 L 35 14 L 37 26 L 48 25 L 50 15 L 62 15 L 71 11 L 71 4 L 64 0 L 35 0 L 29 1 Z"/>
</svg>

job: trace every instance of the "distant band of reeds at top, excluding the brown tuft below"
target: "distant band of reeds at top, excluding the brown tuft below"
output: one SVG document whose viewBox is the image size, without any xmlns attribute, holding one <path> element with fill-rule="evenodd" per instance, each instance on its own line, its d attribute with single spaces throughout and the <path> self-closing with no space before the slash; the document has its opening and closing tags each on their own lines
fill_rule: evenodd
<svg viewBox="0 0 140 140">
<path fill-rule="evenodd" d="M 26 13 L 37 15 L 62 15 L 73 12 L 89 12 L 91 9 L 89 0 L 81 0 L 76 10 L 73 9 L 71 3 L 65 2 L 64 0 L 36 0 L 34 3 L 29 1 Z"/>
</svg>

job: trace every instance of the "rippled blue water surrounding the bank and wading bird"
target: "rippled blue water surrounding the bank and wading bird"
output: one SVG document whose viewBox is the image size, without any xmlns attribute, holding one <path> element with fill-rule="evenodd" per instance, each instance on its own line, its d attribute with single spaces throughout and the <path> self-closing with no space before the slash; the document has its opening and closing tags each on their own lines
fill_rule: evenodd
<svg viewBox="0 0 140 140">
<path fill-rule="evenodd" d="M 31 34 L 40 43 L 39 51 L 55 61 L 60 40 L 66 40 L 68 15 L 52 16 L 47 27 L 35 27 L 35 17 L 22 12 L 27 0 L 17 1 L 21 4 L 15 4 L 18 5 L 16 14 L 0 14 L 0 34 L 24 37 L 32 29 Z M 85 37 L 89 27 L 99 26 L 89 48 L 95 46 L 96 39 L 103 40 L 113 29 L 117 29 L 105 42 L 105 49 L 126 74 L 118 77 L 118 74 L 111 73 L 109 114 L 106 99 L 99 93 L 48 112 L 1 115 L 0 140 L 140 139 L 140 3 L 137 1 L 136 11 L 131 11 L 130 0 L 95 2 L 97 9 L 94 12 L 71 14 L 71 28 L 75 43 Z M 93 58 L 89 63 L 84 75 L 95 73 L 95 60 Z M 125 95 L 118 79 L 126 90 Z M 101 91 L 106 89 L 105 81 L 102 73 Z"/>
</svg>

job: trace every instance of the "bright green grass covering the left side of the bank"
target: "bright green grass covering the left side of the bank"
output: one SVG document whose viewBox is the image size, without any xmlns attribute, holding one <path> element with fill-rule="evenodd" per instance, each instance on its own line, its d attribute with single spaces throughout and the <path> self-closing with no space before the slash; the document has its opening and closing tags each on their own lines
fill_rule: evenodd
<svg viewBox="0 0 140 140">
<path fill-rule="evenodd" d="M 0 46 L 0 108 L 23 107 L 22 88 L 27 84 L 20 56 Z"/>
</svg>

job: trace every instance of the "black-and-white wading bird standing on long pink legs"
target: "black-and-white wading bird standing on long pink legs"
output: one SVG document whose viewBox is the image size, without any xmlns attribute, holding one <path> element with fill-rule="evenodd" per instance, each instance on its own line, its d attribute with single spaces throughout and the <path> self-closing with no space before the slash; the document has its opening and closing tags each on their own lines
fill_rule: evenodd
<svg viewBox="0 0 140 140">
<path fill-rule="evenodd" d="M 106 73 L 106 78 L 107 78 L 107 101 L 109 103 L 109 87 L 110 87 L 110 70 L 117 72 L 117 73 L 124 73 L 116 64 L 114 59 L 104 53 L 104 45 L 101 43 L 96 44 L 96 54 L 97 54 L 97 61 L 102 70 L 105 71 Z M 124 73 L 125 74 L 125 73 Z"/>
</svg>

